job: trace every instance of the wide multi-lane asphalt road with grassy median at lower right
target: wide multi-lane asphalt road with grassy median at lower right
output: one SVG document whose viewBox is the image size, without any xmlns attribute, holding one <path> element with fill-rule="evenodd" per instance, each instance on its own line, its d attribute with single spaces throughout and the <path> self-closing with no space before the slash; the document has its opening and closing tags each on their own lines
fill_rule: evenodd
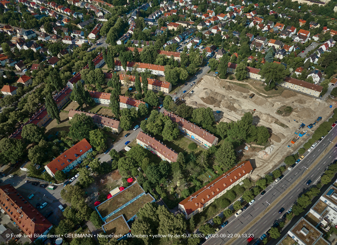
<svg viewBox="0 0 337 245">
<path fill-rule="evenodd" d="M 265 189 L 267 193 L 264 196 L 256 196 L 255 202 L 244 210 L 238 218 L 234 215 L 230 217 L 228 219 L 228 225 L 216 234 L 217 237 L 208 239 L 204 244 L 222 245 L 226 243 L 229 239 L 231 239 L 231 237 L 235 236 L 234 234 L 238 234 L 241 229 L 247 226 L 247 224 L 256 216 L 263 213 L 268 205 L 275 201 L 277 197 L 280 196 L 296 179 L 302 177 L 304 174 L 305 177 L 303 180 L 301 180 L 298 185 L 296 185 L 289 194 L 287 194 L 287 198 L 282 199 L 271 210 L 269 210 L 269 212 L 265 213 L 265 215 L 259 219 L 253 227 L 244 233 L 243 236 L 240 234 L 240 238 L 235 241 L 235 244 L 246 244 L 249 234 L 254 235 L 254 242 L 256 242 L 256 240 L 266 233 L 266 231 L 268 231 L 276 221 L 280 221 L 280 218 L 282 219 L 282 215 L 293 206 L 298 197 L 308 190 L 311 185 L 315 185 L 317 183 L 328 165 L 336 159 L 337 149 L 335 147 L 333 147 L 329 152 L 325 152 L 327 146 L 329 144 L 333 144 L 330 143 L 330 141 L 336 136 L 337 128 L 334 127 L 311 152 L 306 151 L 304 153 L 305 158 L 301 162 L 299 162 L 292 170 L 286 170 L 284 177 L 280 181 L 277 183 L 273 182 L 270 186 L 268 186 Z M 322 153 L 326 154 L 323 159 L 321 159 L 321 161 L 312 170 L 307 172 L 306 170 Z M 306 182 L 309 179 L 312 182 L 309 186 L 307 186 Z M 285 211 L 282 214 L 279 214 L 278 211 L 282 207 Z M 226 237 L 224 237 L 224 235 L 226 235 Z M 254 243 L 252 242 L 252 244 Z"/>
</svg>

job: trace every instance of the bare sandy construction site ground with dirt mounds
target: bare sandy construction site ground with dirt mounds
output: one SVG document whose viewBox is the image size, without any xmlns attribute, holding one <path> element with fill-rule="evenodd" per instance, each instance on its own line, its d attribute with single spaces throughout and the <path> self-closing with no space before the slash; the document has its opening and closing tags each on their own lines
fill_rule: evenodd
<svg viewBox="0 0 337 245">
<path fill-rule="evenodd" d="M 270 154 L 257 154 L 260 150 L 256 148 L 244 151 L 245 155 L 242 160 L 255 159 L 256 166 L 253 167 L 256 168 L 252 174 L 253 179 L 264 176 L 265 173 L 272 170 L 286 156 L 292 154 L 307 139 L 307 136 L 304 135 L 297 140 L 295 145 L 290 143 L 296 136 L 294 132 L 299 128 L 301 123 L 309 125 L 319 116 L 323 117 L 323 120 L 321 120 L 323 122 L 336 107 L 336 105 L 333 105 L 333 108 L 329 108 L 329 105 L 325 101 L 288 89 L 284 89 L 280 96 L 265 97 L 247 88 L 221 81 L 216 77 L 208 75 L 205 75 L 193 87 L 193 90 L 193 94 L 188 93 L 185 95 L 186 104 L 194 108 L 212 108 L 215 120 L 218 122 L 237 121 L 244 113 L 251 112 L 253 113 L 253 124 L 258 126 L 263 125 L 269 129 L 271 144 L 274 146 L 274 150 Z M 254 93 L 255 96 L 250 99 L 249 95 L 251 93 Z M 284 117 L 276 113 L 277 109 L 281 106 L 293 108 L 290 116 Z M 255 112 L 253 111 L 254 109 L 256 109 Z M 221 113 L 217 114 L 217 110 L 221 111 Z M 279 124 L 285 126 L 282 127 Z M 313 129 L 316 128 L 317 126 Z M 313 133 L 307 127 L 305 127 L 305 130 L 308 130 L 307 134 Z M 292 145 L 290 148 L 287 147 L 289 144 Z"/>
</svg>

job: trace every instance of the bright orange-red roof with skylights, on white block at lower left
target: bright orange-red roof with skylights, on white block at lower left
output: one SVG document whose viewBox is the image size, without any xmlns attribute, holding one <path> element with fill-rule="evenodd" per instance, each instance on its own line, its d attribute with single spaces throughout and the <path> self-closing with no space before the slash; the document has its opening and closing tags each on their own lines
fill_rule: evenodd
<svg viewBox="0 0 337 245">
<path fill-rule="evenodd" d="M 76 145 L 71 147 L 69 150 L 66 150 L 64 153 L 59 155 L 53 161 L 47 164 L 47 167 L 52 171 L 52 173 L 56 173 L 58 170 L 62 170 L 67 167 L 70 163 L 78 159 L 82 154 L 86 151 L 90 150 L 92 147 L 89 144 L 88 140 L 82 139 Z M 77 156 L 76 156 L 76 155 Z"/>
</svg>

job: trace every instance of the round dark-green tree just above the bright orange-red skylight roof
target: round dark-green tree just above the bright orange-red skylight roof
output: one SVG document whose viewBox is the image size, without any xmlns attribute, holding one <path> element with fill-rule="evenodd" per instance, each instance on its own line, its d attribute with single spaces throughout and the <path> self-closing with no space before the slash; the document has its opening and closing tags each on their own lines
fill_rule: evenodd
<svg viewBox="0 0 337 245">
<path fill-rule="evenodd" d="M 69 136 L 75 140 L 82 140 L 84 138 L 90 138 L 90 131 L 94 127 L 94 121 L 92 117 L 87 116 L 84 113 L 75 114 L 69 121 L 71 125 L 69 128 Z"/>
</svg>

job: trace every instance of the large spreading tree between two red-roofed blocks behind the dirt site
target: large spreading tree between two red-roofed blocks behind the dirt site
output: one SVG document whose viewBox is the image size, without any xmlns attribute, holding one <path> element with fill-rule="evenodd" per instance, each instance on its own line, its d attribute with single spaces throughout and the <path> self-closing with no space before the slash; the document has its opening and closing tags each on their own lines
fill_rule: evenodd
<svg viewBox="0 0 337 245">
<path fill-rule="evenodd" d="M 267 88 L 270 90 L 276 86 L 276 83 L 283 82 L 284 78 L 289 75 L 289 70 L 285 70 L 281 64 L 266 62 L 258 74 L 265 79 Z"/>
</svg>

